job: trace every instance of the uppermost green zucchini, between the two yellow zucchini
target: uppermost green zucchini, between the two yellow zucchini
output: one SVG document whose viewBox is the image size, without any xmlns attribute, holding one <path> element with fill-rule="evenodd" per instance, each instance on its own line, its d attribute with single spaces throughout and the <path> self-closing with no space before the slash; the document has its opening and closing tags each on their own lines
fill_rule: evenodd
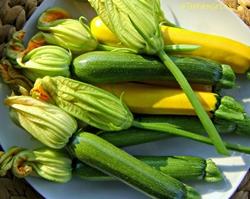
<svg viewBox="0 0 250 199">
<path fill-rule="evenodd" d="M 235 74 L 230 66 L 212 60 L 183 55 L 170 58 L 190 83 L 232 88 Z M 75 58 L 73 72 L 83 82 L 115 83 L 128 81 L 175 82 L 175 78 L 159 60 L 122 52 L 89 52 Z"/>
</svg>

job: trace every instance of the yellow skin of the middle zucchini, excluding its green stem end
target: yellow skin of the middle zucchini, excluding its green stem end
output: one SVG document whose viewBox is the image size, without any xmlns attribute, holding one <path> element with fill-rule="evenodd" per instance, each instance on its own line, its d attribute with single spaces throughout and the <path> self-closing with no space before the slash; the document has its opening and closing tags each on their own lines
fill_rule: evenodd
<svg viewBox="0 0 250 199">
<path fill-rule="evenodd" d="M 134 113 L 196 115 L 193 106 L 181 89 L 139 83 L 98 86 L 121 97 Z M 217 94 L 202 91 L 197 91 L 196 94 L 207 112 L 216 110 Z"/>
</svg>

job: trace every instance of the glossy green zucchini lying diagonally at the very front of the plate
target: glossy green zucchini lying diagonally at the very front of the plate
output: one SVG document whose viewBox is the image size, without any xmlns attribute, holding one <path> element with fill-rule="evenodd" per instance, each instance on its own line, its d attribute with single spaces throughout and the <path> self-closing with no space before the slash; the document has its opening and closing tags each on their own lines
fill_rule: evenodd
<svg viewBox="0 0 250 199">
<path fill-rule="evenodd" d="M 94 134 L 77 134 L 69 143 L 68 150 L 80 161 L 152 198 L 200 198 L 193 188 L 162 174 Z"/>
</svg>

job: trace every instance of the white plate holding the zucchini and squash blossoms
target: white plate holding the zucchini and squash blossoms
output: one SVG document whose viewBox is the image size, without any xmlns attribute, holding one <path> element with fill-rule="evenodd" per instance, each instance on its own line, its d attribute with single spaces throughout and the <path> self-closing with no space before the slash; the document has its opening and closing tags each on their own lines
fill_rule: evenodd
<svg viewBox="0 0 250 199">
<path fill-rule="evenodd" d="M 78 0 L 45 0 L 36 10 L 25 26 L 28 37 L 35 31 L 35 23 L 39 14 L 48 7 L 58 5 L 68 9 L 74 16 L 91 16 L 91 9 L 84 1 Z M 177 21 L 181 26 L 219 35 L 224 35 L 235 40 L 250 44 L 250 31 L 241 20 L 229 9 L 217 0 L 162 0 L 163 8 L 169 19 Z M 228 46 L 230 48 L 230 46 Z M 244 78 L 239 81 L 241 88 L 233 90 L 231 94 L 239 100 L 250 96 L 247 82 Z M 0 82 L 0 100 L 3 102 L 7 96 L 7 87 Z M 246 102 L 247 100 L 245 100 Z M 248 113 L 250 105 L 245 103 Z M 4 149 L 12 145 L 34 147 L 39 144 L 27 133 L 16 127 L 8 117 L 8 109 L 0 103 L 0 140 Z M 227 137 L 231 142 L 249 145 L 249 138 Z M 213 158 L 220 166 L 225 176 L 225 181 L 216 184 L 192 183 L 202 194 L 204 199 L 226 199 L 236 190 L 245 176 L 250 165 L 250 157 L 247 155 L 232 153 L 231 157 L 222 157 L 216 154 L 211 146 L 194 141 L 175 138 L 140 146 L 127 148 L 134 154 L 148 155 L 198 155 L 204 158 Z M 119 182 L 87 182 L 74 178 L 67 184 L 56 184 L 37 178 L 28 178 L 30 184 L 48 199 L 142 199 L 146 196 L 123 185 Z"/>
</svg>

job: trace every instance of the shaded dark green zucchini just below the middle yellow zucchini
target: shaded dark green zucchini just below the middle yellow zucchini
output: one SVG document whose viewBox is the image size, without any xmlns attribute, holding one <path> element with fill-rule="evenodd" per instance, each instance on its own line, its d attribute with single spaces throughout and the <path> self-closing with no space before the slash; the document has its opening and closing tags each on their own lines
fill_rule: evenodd
<svg viewBox="0 0 250 199">
<path fill-rule="evenodd" d="M 135 119 L 140 122 L 166 123 L 168 125 L 173 125 L 178 129 L 206 135 L 206 131 L 200 123 L 199 119 L 194 116 L 137 115 Z M 220 134 L 240 134 L 246 136 L 250 135 L 250 118 L 248 117 L 246 117 L 243 121 L 214 119 L 213 123 Z M 136 127 L 130 127 L 129 129 L 117 131 L 115 133 L 110 131 L 99 131 L 97 132 L 97 134 L 103 139 L 119 147 L 143 144 L 173 137 L 173 135 L 164 132 L 139 129 Z"/>
</svg>

